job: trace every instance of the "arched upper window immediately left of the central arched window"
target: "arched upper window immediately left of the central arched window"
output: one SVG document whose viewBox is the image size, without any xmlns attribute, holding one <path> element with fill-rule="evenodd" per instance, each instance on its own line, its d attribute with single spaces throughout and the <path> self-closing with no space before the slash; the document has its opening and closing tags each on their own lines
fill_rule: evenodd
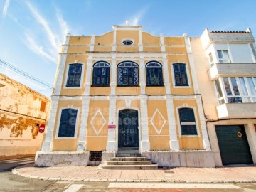
<svg viewBox="0 0 256 192">
<path fill-rule="evenodd" d="M 93 65 L 92 86 L 110 85 L 110 64 L 107 62 L 97 62 Z"/>
</svg>

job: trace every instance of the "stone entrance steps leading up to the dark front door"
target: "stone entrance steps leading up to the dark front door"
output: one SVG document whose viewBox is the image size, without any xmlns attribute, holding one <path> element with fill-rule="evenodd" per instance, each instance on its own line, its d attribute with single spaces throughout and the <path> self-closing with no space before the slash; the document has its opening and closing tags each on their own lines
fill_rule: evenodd
<svg viewBox="0 0 256 192">
<path fill-rule="evenodd" d="M 151 160 L 142 157 L 137 150 L 118 151 L 116 157 L 111 157 L 110 161 L 99 165 L 100 169 L 122 169 L 122 170 L 151 170 L 157 169 L 157 164 L 152 164 Z"/>
</svg>

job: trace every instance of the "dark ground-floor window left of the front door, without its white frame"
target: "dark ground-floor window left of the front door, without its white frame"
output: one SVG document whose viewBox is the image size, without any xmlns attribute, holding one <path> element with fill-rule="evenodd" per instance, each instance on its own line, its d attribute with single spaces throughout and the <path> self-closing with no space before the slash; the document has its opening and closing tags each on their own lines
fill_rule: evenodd
<svg viewBox="0 0 256 192">
<path fill-rule="evenodd" d="M 77 114 L 78 110 L 75 109 L 61 110 L 58 137 L 75 137 Z"/>
</svg>

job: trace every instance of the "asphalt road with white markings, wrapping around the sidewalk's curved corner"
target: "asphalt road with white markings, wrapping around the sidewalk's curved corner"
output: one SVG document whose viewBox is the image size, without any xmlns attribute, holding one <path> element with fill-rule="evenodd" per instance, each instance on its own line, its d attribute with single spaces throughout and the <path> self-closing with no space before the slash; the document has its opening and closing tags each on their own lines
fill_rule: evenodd
<svg viewBox="0 0 256 192">
<path fill-rule="evenodd" d="M 256 183 L 118 183 L 118 182 L 73 182 L 44 181 L 25 178 L 11 173 L 16 166 L 33 163 L 33 158 L 0 161 L 0 192 L 42 191 L 42 192 L 256 192 Z"/>
</svg>

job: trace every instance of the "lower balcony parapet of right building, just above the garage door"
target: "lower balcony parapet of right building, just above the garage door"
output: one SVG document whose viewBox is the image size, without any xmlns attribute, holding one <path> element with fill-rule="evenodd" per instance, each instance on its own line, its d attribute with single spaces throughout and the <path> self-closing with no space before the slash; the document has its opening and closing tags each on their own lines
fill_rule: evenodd
<svg viewBox="0 0 256 192">
<path fill-rule="evenodd" d="M 225 103 L 217 106 L 219 119 L 255 118 L 256 103 Z"/>
</svg>

